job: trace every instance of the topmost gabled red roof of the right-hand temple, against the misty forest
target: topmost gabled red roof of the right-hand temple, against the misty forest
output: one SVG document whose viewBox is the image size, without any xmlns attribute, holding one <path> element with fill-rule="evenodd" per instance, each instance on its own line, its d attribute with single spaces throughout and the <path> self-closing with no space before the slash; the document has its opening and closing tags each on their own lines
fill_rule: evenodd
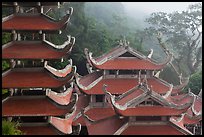
<svg viewBox="0 0 204 137">
<path fill-rule="evenodd" d="M 159 70 L 172 59 L 172 54 L 167 54 L 166 60 L 158 63 L 129 46 L 118 46 L 98 58 L 93 58 L 88 49 L 85 49 L 85 54 L 91 66 L 108 70 Z"/>
</svg>

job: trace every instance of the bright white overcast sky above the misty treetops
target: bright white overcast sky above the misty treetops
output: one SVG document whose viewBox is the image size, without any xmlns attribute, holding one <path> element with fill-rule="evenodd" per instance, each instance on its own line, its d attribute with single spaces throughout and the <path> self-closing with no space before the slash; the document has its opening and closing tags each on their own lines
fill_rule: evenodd
<svg viewBox="0 0 204 137">
<path fill-rule="evenodd" d="M 137 9 L 147 14 L 152 12 L 173 12 L 186 10 L 189 5 L 198 2 L 122 2 L 129 10 Z"/>
</svg>

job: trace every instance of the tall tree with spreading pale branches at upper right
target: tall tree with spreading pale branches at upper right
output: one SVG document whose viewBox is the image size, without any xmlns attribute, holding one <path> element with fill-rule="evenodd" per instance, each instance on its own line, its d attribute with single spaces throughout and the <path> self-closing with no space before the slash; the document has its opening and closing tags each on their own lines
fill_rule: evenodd
<svg viewBox="0 0 204 137">
<path fill-rule="evenodd" d="M 152 13 L 146 20 L 154 34 L 162 33 L 165 43 L 174 50 L 174 62 L 180 73 L 191 75 L 202 63 L 202 4 L 190 5 L 186 11 Z M 161 41 L 160 41 L 161 42 Z"/>
</svg>

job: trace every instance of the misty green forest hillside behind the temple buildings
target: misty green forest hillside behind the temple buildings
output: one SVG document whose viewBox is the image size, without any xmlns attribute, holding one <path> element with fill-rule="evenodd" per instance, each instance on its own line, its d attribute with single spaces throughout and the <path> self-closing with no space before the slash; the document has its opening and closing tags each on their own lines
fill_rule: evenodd
<svg viewBox="0 0 204 137">
<path fill-rule="evenodd" d="M 165 54 L 161 47 L 173 53 L 172 63 L 160 73 L 160 77 L 174 85 L 179 84 L 178 76 L 190 77 L 188 86 L 198 94 L 202 83 L 202 4 L 189 5 L 182 12 L 165 13 L 158 11 L 150 15 L 127 13 L 120 2 L 70 2 L 61 8 L 53 8 L 47 15 L 61 19 L 73 7 L 74 12 L 68 26 L 61 35 L 50 34 L 48 40 L 62 44 L 67 35 L 76 38 L 71 58 L 80 75 L 86 75 L 84 48 L 100 56 L 117 46 L 119 40 L 126 39 L 129 45 L 148 55 L 153 49 L 153 59 L 161 61 Z M 4 8 L 2 17 L 12 11 Z M 144 21 L 141 21 L 141 18 Z M 2 34 L 2 45 L 11 41 L 9 33 Z M 26 61 L 25 61 L 26 62 Z M 67 64 L 53 62 L 56 68 Z M 173 69 L 173 67 L 175 69 Z M 2 71 L 9 69 L 7 60 L 2 61 Z M 2 90 L 4 94 L 6 91 Z"/>
</svg>

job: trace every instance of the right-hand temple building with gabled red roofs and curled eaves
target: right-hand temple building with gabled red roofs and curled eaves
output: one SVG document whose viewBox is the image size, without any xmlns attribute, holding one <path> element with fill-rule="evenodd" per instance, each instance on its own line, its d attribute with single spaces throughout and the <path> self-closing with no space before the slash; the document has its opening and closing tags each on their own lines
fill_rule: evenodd
<svg viewBox="0 0 204 137">
<path fill-rule="evenodd" d="M 125 40 L 99 57 L 85 49 L 89 74 L 76 83 L 89 103 L 75 120 L 89 135 L 192 135 L 202 120 L 201 93 L 184 93 L 188 78 L 173 85 L 159 78 L 172 54 L 157 62 Z M 193 130 L 189 127 L 193 126 Z M 201 128 L 202 126 L 200 126 Z M 202 134 L 202 133 L 201 133 Z"/>
</svg>

